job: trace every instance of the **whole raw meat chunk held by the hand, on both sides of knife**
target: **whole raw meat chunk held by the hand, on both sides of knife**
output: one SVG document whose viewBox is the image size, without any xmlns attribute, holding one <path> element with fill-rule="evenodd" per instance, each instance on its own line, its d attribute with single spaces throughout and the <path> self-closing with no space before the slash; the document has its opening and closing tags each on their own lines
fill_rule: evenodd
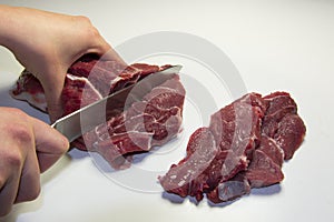
<svg viewBox="0 0 334 222">
<path fill-rule="evenodd" d="M 135 63 L 124 69 L 112 61 L 81 58 L 69 68 L 66 75 L 61 94 L 63 115 L 169 67 Z M 47 112 L 43 89 L 31 73 L 22 72 L 11 94 Z M 163 145 L 178 134 L 183 122 L 184 99 L 185 89 L 175 74 L 129 108 L 107 110 L 107 117 L 110 118 L 106 123 L 85 133 L 71 145 L 100 153 L 115 169 L 129 168 L 135 153 Z"/>
</svg>

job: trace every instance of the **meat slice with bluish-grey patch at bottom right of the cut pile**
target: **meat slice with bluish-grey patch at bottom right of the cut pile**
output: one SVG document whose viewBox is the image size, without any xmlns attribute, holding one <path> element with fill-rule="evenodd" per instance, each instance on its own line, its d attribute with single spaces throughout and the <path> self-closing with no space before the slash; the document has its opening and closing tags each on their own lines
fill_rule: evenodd
<svg viewBox="0 0 334 222">
<path fill-rule="evenodd" d="M 207 194 L 213 203 L 233 201 L 250 193 L 252 188 L 263 188 L 284 179 L 281 167 L 284 152 L 276 141 L 262 135 L 261 143 L 252 153 L 248 168 L 227 181 L 220 181 L 215 190 Z"/>
</svg>

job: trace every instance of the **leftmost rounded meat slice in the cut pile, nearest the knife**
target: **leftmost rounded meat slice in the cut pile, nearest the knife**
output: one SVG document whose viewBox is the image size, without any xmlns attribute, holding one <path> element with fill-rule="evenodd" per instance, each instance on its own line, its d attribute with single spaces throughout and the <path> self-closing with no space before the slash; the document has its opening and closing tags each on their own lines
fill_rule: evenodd
<svg viewBox="0 0 334 222">
<path fill-rule="evenodd" d="M 208 128 L 199 128 L 187 147 L 187 157 L 173 164 L 166 175 L 159 178 L 165 190 L 183 198 L 190 195 L 203 199 L 208 175 L 207 168 L 218 152 L 213 134 Z"/>
</svg>

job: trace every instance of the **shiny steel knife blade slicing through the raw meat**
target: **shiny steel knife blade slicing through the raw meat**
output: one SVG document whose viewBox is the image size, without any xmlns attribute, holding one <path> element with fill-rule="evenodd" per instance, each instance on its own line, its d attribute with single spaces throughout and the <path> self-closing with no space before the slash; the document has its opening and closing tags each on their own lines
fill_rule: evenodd
<svg viewBox="0 0 334 222">
<path fill-rule="evenodd" d="M 155 87 L 175 77 L 180 69 L 181 65 L 173 65 L 163 71 L 151 73 L 135 84 L 128 85 L 99 101 L 60 118 L 51 127 L 62 133 L 69 142 L 72 142 L 84 133 L 105 123 L 107 118 L 110 118 L 106 109 L 126 109 L 134 102 L 140 101 Z"/>
</svg>

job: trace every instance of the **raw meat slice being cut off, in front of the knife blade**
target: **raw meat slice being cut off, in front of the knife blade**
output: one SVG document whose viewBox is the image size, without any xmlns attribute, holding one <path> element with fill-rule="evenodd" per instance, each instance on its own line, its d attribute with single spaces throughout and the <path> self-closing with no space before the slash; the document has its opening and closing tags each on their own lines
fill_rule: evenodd
<svg viewBox="0 0 334 222">
<path fill-rule="evenodd" d="M 143 101 L 84 134 L 86 149 L 101 153 L 115 169 L 127 168 L 129 154 L 147 152 L 177 135 L 184 99 L 185 89 L 175 75 L 153 89 Z"/>
</svg>

